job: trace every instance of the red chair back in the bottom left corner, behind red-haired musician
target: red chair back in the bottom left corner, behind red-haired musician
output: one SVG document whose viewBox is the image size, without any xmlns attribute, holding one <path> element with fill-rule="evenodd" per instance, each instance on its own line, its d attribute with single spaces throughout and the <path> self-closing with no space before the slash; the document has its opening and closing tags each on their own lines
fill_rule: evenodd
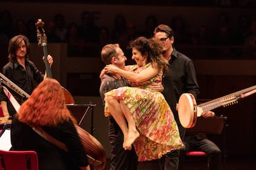
<svg viewBox="0 0 256 170">
<path fill-rule="evenodd" d="M 35 151 L 0 150 L 0 169 L 38 170 L 38 157 Z"/>
</svg>

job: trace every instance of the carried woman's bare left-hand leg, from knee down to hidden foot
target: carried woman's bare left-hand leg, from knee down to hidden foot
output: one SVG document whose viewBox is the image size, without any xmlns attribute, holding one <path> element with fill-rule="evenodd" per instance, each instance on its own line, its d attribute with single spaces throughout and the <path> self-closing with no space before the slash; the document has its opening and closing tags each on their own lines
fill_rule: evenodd
<svg viewBox="0 0 256 170">
<path fill-rule="evenodd" d="M 128 135 L 128 127 L 126 117 L 122 113 L 120 103 L 112 96 L 106 97 L 105 101 L 108 102 L 109 111 L 124 134 L 125 141 Z"/>
</svg>

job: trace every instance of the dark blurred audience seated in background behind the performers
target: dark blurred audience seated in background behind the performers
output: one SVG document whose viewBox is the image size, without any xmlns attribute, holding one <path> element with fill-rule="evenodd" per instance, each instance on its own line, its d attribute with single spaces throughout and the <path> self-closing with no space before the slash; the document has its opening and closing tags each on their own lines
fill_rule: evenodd
<svg viewBox="0 0 256 170">
<path fill-rule="evenodd" d="M 179 5 L 178 1 L 175 3 Z M 195 4 L 198 3 L 200 1 L 195 2 Z M 229 6 L 228 3 L 228 1 L 211 1 L 211 5 L 218 4 L 218 6 Z M 186 0 L 182 1 L 182 4 L 189 5 Z M 244 7 L 247 4 L 254 5 L 252 1 L 246 1 L 246 3 L 237 1 L 236 3 L 232 2 L 230 5 Z M 189 30 L 191 28 L 186 22 L 186 17 L 182 15 L 174 16 L 170 26 L 172 26 L 177 38 L 176 47 L 184 47 L 184 45 L 201 46 L 199 47 L 201 53 L 204 50 L 202 46 L 221 46 L 221 49 L 229 48 L 228 51 L 223 53 L 229 55 L 232 53 L 230 51 L 233 51 L 229 46 L 252 46 L 252 44 L 255 44 L 254 22 L 251 20 L 253 16 L 241 14 L 238 18 L 231 17 L 233 15 L 228 12 L 221 12 L 216 15 L 216 20 L 210 22 L 209 25 L 198 22 L 195 30 Z M 14 20 L 13 18 L 16 19 Z M 56 14 L 52 21 L 44 21 L 47 40 L 48 42 L 67 42 L 69 44 L 69 54 L 74 55 L 91 56 L 93 54 L 96 56 L 99 53 L 98 49 L 109 43 L 120 44 L 126 54 L 130 55 L 130 51 L 127 49 L 129 41 L 138 36 L 151 38 L 154 28 L 158 25 L 159 18 L 155 15 L 147 15 L 144 21 L 145 25 L 140 28 L 134 21 L 127 20 L 125 15 L 118 14 L 112 19 L 114 23 L 110 28 L 105 25 L 95 25 L 94 13 L 87 10 L 82 12 L 79 23 L 66 22 L 64 15 Z M 233 22 L 231 23 L 230 21 Z M 161 22 L 168 23 L 169 21 L 163 20 Z M 8 43 L 10 37 L 15 34 L 23 34 L 28 37 L 30 42 L 37 42 L 35 18 L 30 18 L 26 21 L 23 18 L 13 17 L 8 10 L 1 11 L 0 43 Z M 214 52 L 214 55 L 218 54 L 218 50 Z M 234 51 L 236 50 L 239 51 L 241 49 L 235 49 Z M 191 51 L 190 48 L 187 48 L 187 51 Z M 197 51 L 199 52 L 198 49 Z M 239 52 L 240 54 L 242 55 L 241 52 Z"/>
</svg>

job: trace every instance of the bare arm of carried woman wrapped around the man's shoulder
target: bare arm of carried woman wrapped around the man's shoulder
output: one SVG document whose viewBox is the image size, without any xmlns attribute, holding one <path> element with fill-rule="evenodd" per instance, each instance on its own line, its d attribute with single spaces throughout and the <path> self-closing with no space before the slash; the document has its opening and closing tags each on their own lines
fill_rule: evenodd
<svg viewBox="0 0 256 170">
<path fill-rule="evenodd" d="M 117 73 L 118 75 L 135 83 L 147 81 L 148 79 L 151 79 L 158 74 L 158 69 L 151 67 L 151 65 L 148 68 L 145 68 L 145 70 L 142 70 L 140 73 L 122 70 L 115 67 L 114 65 L 106 65 L 105 70 L 106 73 Z"/>
</svg>

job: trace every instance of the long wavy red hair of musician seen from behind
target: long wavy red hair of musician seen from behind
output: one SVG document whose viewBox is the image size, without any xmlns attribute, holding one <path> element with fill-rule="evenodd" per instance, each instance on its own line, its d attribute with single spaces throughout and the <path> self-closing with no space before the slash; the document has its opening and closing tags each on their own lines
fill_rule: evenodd
<svg viewBox="0 0 256 170">
<path fill-rule="evenodd" d="M 56 79 L 46 78 L 31 96 L 21 105 L 17 116 L 20 122 L 29 126 L 57 126 L 71 119 L 76 123 L 66 107 L 64 92 Z"/>
</svg>

